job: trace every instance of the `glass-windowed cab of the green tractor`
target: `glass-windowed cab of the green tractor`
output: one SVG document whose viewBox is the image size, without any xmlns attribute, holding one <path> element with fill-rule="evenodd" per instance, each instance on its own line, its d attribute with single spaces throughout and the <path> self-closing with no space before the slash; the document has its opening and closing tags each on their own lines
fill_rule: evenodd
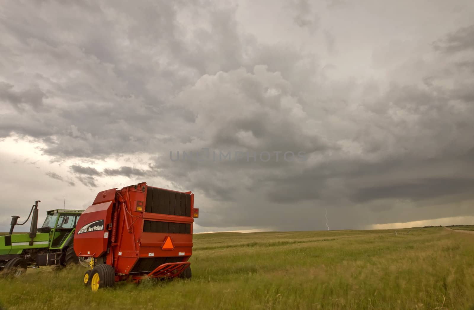
<svg viewBox="0 0 474 310">
<path fill-rule="evenodd" d="M 49 233 L 49 248 L 61 248 L 76 227 L 82 210 L 51 210 L 47 211 L 43 226 L 37 228 L 39 233 Z"/>
</svg>

